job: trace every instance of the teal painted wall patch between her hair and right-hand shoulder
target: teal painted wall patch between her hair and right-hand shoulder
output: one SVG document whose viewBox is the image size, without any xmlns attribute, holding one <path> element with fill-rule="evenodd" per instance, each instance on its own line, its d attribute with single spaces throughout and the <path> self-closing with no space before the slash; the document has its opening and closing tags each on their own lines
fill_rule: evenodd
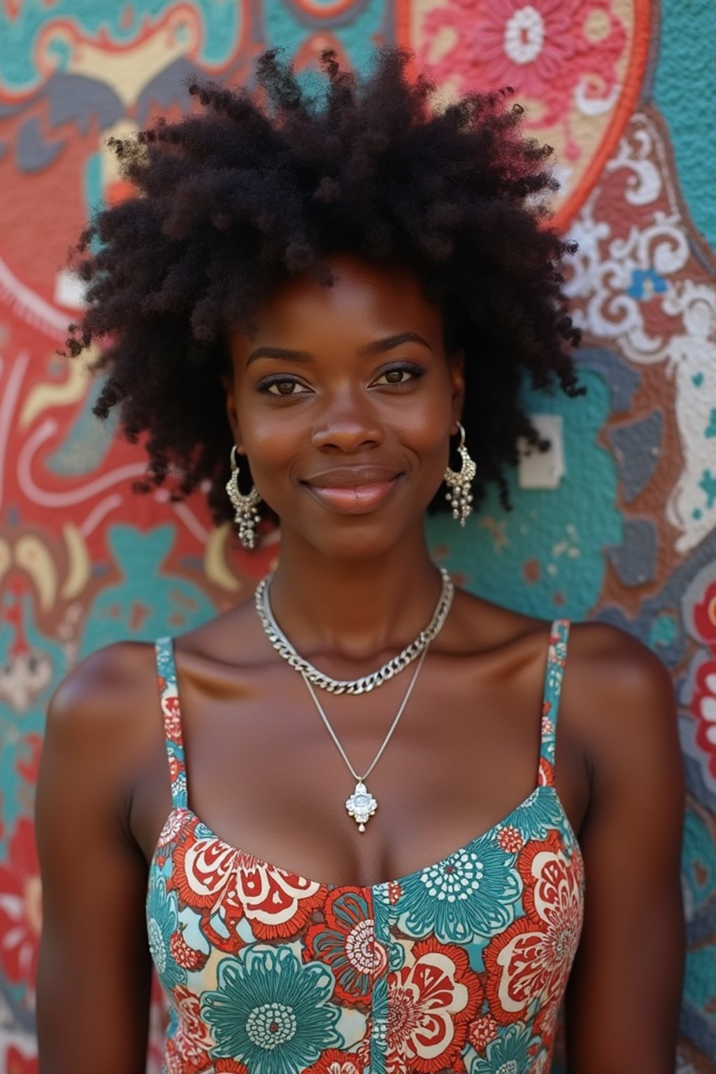
<svg viewBox="0 0 716 1074">
<path fill-rule="evenodd" d="M 622 541 L 616 468 L 597 442 L 610 411 L 610 389 L 597 373 L 583 371 L 580 377 L 587 389 L 580 398 L 526 396 L 530 412 L 562 416 L 567 474 L 558 489 L 518 489 L 512 473 L 512 511 L 500 507 L 491 489 L 464 531 L 450 516 L 427 523 L 434 555 L 468 589 L 543 619 L 584 619 L 601 591 L 602 549 Z"/>
</svg>

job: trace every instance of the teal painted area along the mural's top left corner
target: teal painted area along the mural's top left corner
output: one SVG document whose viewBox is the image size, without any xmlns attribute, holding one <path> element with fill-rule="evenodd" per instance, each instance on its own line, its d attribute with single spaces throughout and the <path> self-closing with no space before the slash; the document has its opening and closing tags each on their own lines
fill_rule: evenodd
<svg viewBox="0 0 716 1074">
<path fill-rule="evenodd" d="M 52 31 L 53 23 L 73 23 L 82 37 L 97 41 L 106 34 L 114 45 L 131 45 L 140 37 L 145 19 L 158 20 L 172 9 L 187 8 L 172 0 L 135 0 L 106 4 L 97 0 L 25 0 L 19 14 L 11 18 L 8 5 L 0 8 L 0 84 L 13 92 L 29 92 L 44 79 L 36 68 L 36 35 Z M 236 0 L 191 0 L 190 9 L 200 16 L 203 47 L 200 60 L 208 67 L 225 62 L 238 44 L 242 4 Z M 49 52 L 58 69 L 69 61 L 67 45 L 55 39 Z"/>
</svg>

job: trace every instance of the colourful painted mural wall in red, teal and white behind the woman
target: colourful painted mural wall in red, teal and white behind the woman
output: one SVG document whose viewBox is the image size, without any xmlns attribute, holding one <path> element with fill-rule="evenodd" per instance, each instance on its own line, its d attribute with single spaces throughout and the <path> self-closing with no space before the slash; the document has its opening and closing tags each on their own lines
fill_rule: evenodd
<svg viewBox="0 0 716 1074">
<path fill-rule="evenodd" d="M 530 398 L 561 461 L 514 475 L 509 514 L 492 496 L 464 533 L 430 520 L 430 543 L 476 592 L 616 623 L 673 671 L 688 775 L 678 1070 L 716 1071 L 713 0 L 0 3 L 1 1071 L 36 1071 L 32 810 L 55 683 L 107 642 L 244 599 L 278 551 L 237 550 L 199 498 L 133 496 L 141 454 L 56 353 L 81 302 L 68 246 L 125 192 L 106 140 L 188 108 L 192 72 L 250 84 L 267 44 L 303 69 L 328 45 L 361 66 L 381 42 L 412 47 L 448 93 L 512 85 L 556 149 L 588 392 Z"/>
</svg>

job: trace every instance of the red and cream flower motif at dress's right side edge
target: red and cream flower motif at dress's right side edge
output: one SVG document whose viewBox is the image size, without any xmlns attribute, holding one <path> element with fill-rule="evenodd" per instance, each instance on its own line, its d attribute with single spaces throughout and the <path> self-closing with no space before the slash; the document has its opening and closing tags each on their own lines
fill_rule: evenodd
<svg viewBox="0 0 716 1074">
<path fill-rule="evenodd" d="M 553 1031 L 556 1008 L 576 953 L 583 915 L 582 862 L 565 857 L 557 832 L 528 843 L 517 859 L 525 889 L 520 917 L 485 948 L 486 993 L 502 1025 L 540 1002 L 540 1030 Z"/>
</svg>

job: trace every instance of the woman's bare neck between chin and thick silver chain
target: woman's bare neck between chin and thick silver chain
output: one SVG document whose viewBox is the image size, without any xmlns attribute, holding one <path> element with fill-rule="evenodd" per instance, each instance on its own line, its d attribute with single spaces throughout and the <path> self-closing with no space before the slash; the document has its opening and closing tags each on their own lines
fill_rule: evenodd
<svg viewBox="0 0 716 1074">
<path fill-rule="evenodd" d="M 374 560 L 333 560 L 281 540 L 269 596 L 274 615 L 306 658 L 393 655 L 427 625 L 441 589 L 422 528 Z"/>
</svg>

